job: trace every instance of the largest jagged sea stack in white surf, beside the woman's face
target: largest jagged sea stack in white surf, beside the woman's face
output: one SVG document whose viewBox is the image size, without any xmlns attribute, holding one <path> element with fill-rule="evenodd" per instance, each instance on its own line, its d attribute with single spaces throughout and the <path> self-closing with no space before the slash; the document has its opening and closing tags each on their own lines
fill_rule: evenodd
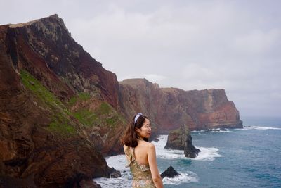
<svg viewBox="0 0 281 188">
<path fill-rule="evenodd" d="M 188 158 L 195 158 L 200 152 L 200 149 L 192 145 L 190 130 L 186 125 L 181 125 L 178 130 L 169 133 L 165 148 L 184 150 L 184 154 Z"/>
</svg>

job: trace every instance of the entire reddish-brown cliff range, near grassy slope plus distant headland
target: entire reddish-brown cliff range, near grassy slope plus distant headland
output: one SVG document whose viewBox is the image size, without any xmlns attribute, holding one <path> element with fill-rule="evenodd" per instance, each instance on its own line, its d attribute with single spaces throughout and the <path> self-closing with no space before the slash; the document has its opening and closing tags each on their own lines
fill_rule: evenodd
<svg viewBox="0 0 281 188">
<path fill-rule="evenodd" d="M 78 186 L 109 177 L 103 155 L 122 151 L 119 137 L 138 112 L 151 118 L 154 136 L 183 124 L 242 126 L 223 89 L 117 82 L 58 15 L 0 26 L 0 101 L 0 187 Z"/>
</svg>

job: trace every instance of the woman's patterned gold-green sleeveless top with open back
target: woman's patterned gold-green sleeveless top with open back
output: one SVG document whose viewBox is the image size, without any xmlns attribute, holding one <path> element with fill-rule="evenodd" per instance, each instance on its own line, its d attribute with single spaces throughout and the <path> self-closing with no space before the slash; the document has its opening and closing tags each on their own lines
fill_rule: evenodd
<svg viewBox="0 0 281 188">
<path fill-rule="evenodd" d="M 150 166 L 148 164 L 139 164 L 136 161 L 135 148 L 127 146 L 125 154 L 129 160 L 126 168 L 130 167 L 131 173 L 133 175 L 133 188 L 155 188 Z"/>
</svg>

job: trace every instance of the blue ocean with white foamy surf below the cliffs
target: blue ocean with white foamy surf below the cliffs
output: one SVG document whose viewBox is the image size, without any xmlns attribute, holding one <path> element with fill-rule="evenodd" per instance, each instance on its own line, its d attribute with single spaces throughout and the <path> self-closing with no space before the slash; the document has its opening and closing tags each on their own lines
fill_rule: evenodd
<svg viewBox="0 0 281 188">
<path fill-rule="evenodd" d="M 164 149 L 167 135 L 156 146 L 162 173 L 170 165 L 179 177 L 164 178 L 164 187 L 281 187 L 281 118 L 244 117 L 244 129 L 192 132 L 192 143 L 201 150 L 195 159 L 183 151 Z M 124 155 L 106 158 L 120 170 L 119 178 L 96 178 L 101 187 L 131 187 Z"/>
</svg>

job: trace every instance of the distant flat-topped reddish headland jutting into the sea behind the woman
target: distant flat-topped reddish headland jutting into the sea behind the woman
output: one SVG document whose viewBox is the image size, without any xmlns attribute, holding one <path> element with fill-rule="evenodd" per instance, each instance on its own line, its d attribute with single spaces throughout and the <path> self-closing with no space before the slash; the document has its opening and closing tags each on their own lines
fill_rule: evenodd
<svg viewBox="0 0 281 188">
<path fill-rule="evenodd" d="M 169 132 L 183 124 L 190 130 L 242 127 L 239 112 L 223 89 L 159 88 L 145 79 L 124 80 L 119 85 L 126 115 L 148 114 L 152 122 L 161 127 L 159 132 Z"/>
</svg>

